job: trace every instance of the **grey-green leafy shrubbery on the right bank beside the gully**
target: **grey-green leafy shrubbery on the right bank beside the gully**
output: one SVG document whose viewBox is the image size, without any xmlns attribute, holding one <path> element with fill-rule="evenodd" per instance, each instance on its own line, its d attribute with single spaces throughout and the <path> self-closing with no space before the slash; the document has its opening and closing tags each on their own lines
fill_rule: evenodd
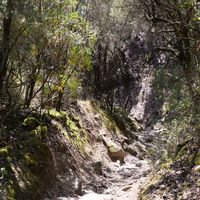
<svg viewBox="0 0 200 200">
<path fill-rule="evenodd" d="M 190 140 L 198 125 L 198 117 L 193 113 L 193 102 L 185 81 L 178 64 L 158 69 L 155 74 L 153 86 L 156 89 L 157 102 L 161 103 L 159 114 L 166 128 L 163 137 L 167 143 L 165 147 L 160 147 L 166 149 L 162 155 L 164 160 L 182 159 L 187 155 L 187 147 L 177 152 L 177 146 Z"/>
</svg>

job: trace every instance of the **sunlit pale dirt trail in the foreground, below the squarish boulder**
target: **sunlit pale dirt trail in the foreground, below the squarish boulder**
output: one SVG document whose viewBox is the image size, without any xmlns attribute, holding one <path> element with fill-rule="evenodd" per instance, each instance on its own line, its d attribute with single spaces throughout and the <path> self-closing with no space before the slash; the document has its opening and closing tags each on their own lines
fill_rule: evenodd
<svg viewBox="0 0 200 200">
<path fill-rule="evenodd" d="M 137 200 L 139 187 L 150 172 L 150 166 L 146 160 L 127 155 L 126 163 L 110 162 L 107 168 L 107 178 L 104 185 L 107 189 L 102 194 L 86 191 L 79 198 L 59 197 L 57 200 Z"/>
</svg>

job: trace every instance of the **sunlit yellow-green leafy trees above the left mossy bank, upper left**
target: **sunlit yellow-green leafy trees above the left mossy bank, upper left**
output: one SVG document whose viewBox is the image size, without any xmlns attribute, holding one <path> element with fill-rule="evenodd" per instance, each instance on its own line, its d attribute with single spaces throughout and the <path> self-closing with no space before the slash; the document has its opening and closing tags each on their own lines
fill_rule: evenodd
<svg viewBox="0 0 200 200">
<path fill-rule="evenodd" d="M 10 89 L 19 88 L 16 93 L 19 98 L 25 97 L 26 106 L 38 93 L 39 102 L 65 89 L 76 96 L 80 74 L 92 68 L 97 30 L 77 11 L 78 3 L 16 2 L 8 81 Z M 0 9 L 5 6 L 1 3 Z"/>
</svg>

